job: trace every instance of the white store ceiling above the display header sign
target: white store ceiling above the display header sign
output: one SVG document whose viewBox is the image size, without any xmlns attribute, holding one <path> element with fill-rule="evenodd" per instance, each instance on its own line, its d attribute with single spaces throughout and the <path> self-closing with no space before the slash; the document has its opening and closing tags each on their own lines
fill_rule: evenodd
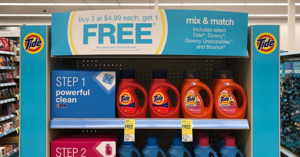
<svg viewBox="0 0 300 157">
<path fill-rule="evenodd" d="M 155 0 L 0 0 L 0 3 L 154 3 Z M 159 3 L 287 3 L 287 0 L 159 0 Z M 296 0 L 300 3 L 300 0 Z M 287 14 L 287 6 L 159 6 L 160 9 L 219 10 L 249 14 Z M 12 6 L 1 5 L 0 14 L 51 14 L 55 12 L 105 9 L 154 9 L 154 6 Z M 44 13 L 43 10 L 46 10 Z M 300 6 L 296 6 L 300 14 Z M 51 18 L 51 16 L 0 16 L 1 18 Z M 266 17 L 249 17 L 266 18 Z M 269 18 L 286 18 L 272 16 Z M 300 16 L 297 16 L 300 18 Z"/>
</svg>

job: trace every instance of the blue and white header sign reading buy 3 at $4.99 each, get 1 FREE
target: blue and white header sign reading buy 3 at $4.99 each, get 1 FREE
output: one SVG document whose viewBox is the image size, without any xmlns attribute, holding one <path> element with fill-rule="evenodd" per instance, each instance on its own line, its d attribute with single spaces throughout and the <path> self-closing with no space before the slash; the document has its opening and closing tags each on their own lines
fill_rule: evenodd
<svg viewBox="0 0 300 157">
<path fill-rule="evenodd" d="M 247 13 L 91 10 L 52 13 L 53 56 L 247 56 Z"/>
</svg>

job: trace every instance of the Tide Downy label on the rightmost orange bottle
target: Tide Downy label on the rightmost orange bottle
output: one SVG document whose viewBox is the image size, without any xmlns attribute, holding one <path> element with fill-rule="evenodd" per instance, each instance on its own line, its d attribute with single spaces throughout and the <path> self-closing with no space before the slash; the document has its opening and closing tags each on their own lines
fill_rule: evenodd
<svg viewBox="0 0 300 157">
<path fill-rule="evenodd" d="M 236 104 L 227 90 L 223 90 L 219 96 L 218 104 L 220 109 L 226 114 L 235 114 Z"/>
</svg>

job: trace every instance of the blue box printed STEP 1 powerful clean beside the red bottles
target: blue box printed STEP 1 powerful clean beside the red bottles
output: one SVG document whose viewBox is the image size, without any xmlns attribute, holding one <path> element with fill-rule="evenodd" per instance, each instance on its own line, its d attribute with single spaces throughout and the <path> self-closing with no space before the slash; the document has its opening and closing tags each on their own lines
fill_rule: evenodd
<svg viewBox="0 0 300 157">
<path fill-rule="evenodd" d="M 51 76 L 51 119 L 115 118 L 116 72 L 58 69 Z"/>
</svg>

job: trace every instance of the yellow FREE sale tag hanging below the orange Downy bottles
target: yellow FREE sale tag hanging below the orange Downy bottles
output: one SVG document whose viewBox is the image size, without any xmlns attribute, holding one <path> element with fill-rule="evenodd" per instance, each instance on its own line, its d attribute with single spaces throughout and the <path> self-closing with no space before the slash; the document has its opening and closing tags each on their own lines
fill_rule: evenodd
<svg viewBox="0 0 300 157">
<path fill-rule="evenodd" d="M 193 124 L 190 119 L 181 120 L 182 142 L 193 141 Z"/>
</svg>

